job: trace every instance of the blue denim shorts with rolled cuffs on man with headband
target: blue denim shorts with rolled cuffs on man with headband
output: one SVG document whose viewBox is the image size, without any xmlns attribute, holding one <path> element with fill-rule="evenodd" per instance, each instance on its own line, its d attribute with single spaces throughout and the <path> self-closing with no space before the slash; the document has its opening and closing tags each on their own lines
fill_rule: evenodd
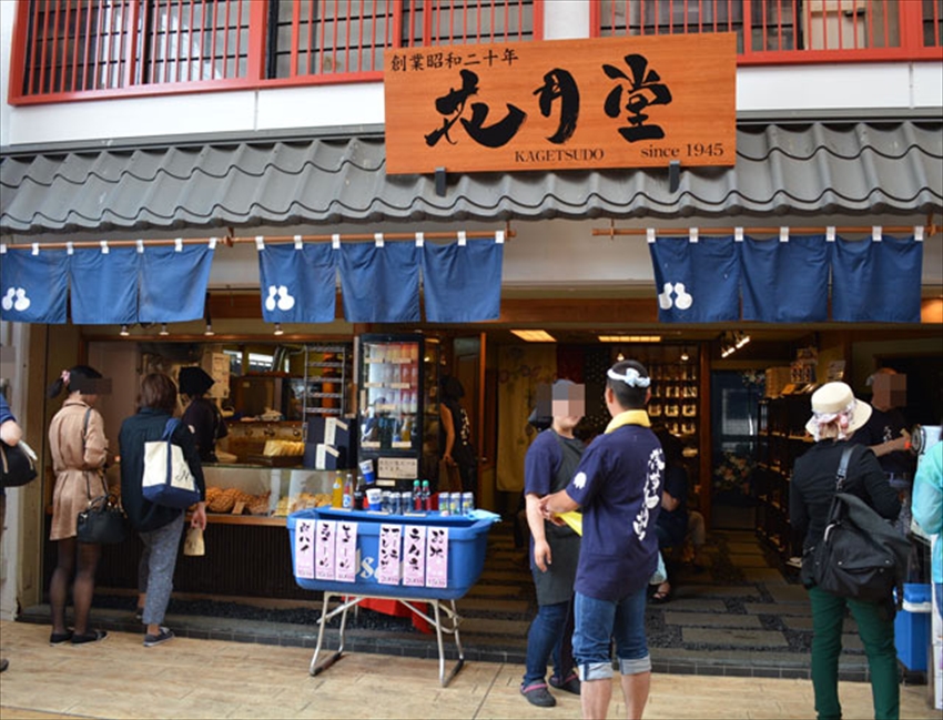
<svg viewBox="0 0 943 720">
<path fill-rule="evenodd" d="M 621 600 L 597 600 L 576 594 L 574 615 L 574 657 L 582 680 L 612 677 L 611 640 L 621 675 L 651 670 L 651 657 L 645 635 L 646 588 Z"/>
</svg>

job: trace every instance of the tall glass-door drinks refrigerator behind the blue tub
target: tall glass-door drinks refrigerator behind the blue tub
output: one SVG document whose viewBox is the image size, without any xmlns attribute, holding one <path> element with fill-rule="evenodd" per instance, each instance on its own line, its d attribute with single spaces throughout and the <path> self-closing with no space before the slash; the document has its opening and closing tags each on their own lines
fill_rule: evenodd
<svg viewBox="0 0 943 720">
<path fill-rule="evenodd" d="M 412 487 L 438 458 L 438 342 L 423 335 L 362 335 L 358 342 L 359 459 L 377 484 Z"/>
</svg>

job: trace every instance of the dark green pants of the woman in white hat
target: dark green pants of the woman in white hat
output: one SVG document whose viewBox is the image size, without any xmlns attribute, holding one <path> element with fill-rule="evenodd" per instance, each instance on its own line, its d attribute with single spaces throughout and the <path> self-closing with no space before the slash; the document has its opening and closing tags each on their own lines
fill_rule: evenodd
<svg viewBox="0 0 943 720">
<path fill-rule="evenodd" d="M 819 720 L 841 718 L 839 656 L 845 607 L 858 623 L 871 670 L 871 696 L 875 720 L 898 720 L 901 710 L 898 653 L 894 649 L 894 609 L 888 602 L 848 600 L 810 588 L 812 602 L 812 687 Z"/>
</svg>

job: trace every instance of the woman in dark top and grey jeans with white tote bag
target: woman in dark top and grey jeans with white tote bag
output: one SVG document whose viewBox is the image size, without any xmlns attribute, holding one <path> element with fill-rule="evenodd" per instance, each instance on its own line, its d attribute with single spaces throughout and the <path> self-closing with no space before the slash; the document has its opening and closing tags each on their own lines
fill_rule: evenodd
<svg viewBox="0 0 943 720">
<path fill-rule="evenodd" d="M 175 408 L 176 386 L 173 381 L 161 373 L 151 373 L 141 382 L 136 415 L 121 424 L 118 436 L 121 448 L 121 501 L 131 526 L 144 544 L 144 552 L 138 564 L 138 613 L 148 626 L 145 648 L 173 639 L 173 631 L 162 622 L 173 590 L 173 571 L 186 511 L 145 499 L 143 478 L 145 444 L 161 439 Z M 201 501 L 196 505 L 190 525 L 205 529 L 206 487 L 193 434 L 183 425 L 178 425 L 171 442 L 183 449 L 183 456 L 200 489 Z"/>
</svg>

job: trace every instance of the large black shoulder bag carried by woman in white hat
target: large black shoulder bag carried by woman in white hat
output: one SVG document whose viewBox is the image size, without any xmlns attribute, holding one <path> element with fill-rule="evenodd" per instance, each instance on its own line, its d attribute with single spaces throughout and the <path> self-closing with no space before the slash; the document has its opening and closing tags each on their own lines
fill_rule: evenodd
<svg viewBox="0 0 943 720">
<path fill-rule="evenodd" d="M 910 542 L 860 497 L 841 491 L 852 450 L 842 454 L 825 533 L 811 549 L 812 579 L 839 597 L 872 602 L 899 587 L 900 601 Z"/>
</svg>

